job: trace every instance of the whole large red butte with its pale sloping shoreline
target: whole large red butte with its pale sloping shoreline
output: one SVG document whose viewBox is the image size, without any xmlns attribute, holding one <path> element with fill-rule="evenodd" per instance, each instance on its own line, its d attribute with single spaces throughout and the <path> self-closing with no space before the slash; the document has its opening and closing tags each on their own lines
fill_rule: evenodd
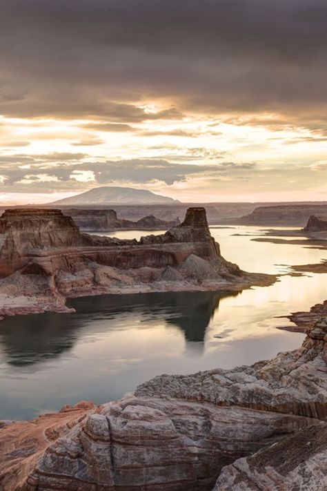
<svg viewBox="0 0 327 491">
<path fill-rule="evenodd" d="M 225 260 L 204 208 L 163 235 L 119 240 L 81 233 L 57 209 L 10 209 L 0 218 L 0 316 L 69 311 L 66 298 L 103 293 L 237 290 L 270 285 Z"/>
</svg>

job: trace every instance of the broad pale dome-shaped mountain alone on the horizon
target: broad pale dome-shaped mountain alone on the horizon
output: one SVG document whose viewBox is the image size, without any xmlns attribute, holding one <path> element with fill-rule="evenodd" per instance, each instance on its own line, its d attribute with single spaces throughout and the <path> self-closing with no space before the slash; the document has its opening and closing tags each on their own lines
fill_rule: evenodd
<svg viewBox="0 0 327 491">
<path fill-rule="evenodd" d="M 90 189 L 85 193 L 81 193 L 70 198 L 54 201 L 49 204 L 63 204 L 67 206 L 83 205 L 83 204 L 164 204 L 164 203 L 179 203 L 178 200 L 173 200 L 167 196 L 151 193 L 145 189 L 134 189 L 119 186 L 103 186 L 100 188 Z"/>
</svg>

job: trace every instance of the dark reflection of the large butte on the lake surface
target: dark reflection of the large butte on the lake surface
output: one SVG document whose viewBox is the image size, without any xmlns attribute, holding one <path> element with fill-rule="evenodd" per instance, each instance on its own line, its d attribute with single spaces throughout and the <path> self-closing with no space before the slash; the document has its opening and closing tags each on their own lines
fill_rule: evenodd
<svg viewBox="0 0 327 491">
<path fill-rule="evenodd" d="M 199 343 L 199 347 L 203 347 L 206 327 L 219 308 L 220 299 L 237 294 L 202 291 L 77 298 L 69 302 L 77 309 L 77 314 L 6 318 L 1 321 L 0 343 L 7 363 L 17 367 L 33 365 L 69 352 L 88 329 L 88 321 L 95 318 L 95 314 L 98 319 L 101 315 L 100 320 L 106 320 L 138 313 L 144 317 L 144 322 L 152 321 L 152 325 L 157 318 L 164 318 L 168 325 L 181 329 L 187 343 L 193 346 L 193 343 Z M 106 324 L 106 331 L 115 331 L 113 322 Z M 103 323 L 98 332 L 103 332 Z M 92 334 L 97 334 L 96 319 Z"/>
</svg>

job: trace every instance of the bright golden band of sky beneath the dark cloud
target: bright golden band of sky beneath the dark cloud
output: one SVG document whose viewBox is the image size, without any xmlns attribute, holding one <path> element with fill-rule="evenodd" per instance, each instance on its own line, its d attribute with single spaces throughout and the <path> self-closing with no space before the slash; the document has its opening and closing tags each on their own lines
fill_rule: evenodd
<svg viewBox="0 0 327 491">
<path fill-rule="evenodd" d="M 317 178 L 315 185 L 310 185 L 313 173 L 326 170 L 325 140 L 317 141 L 316 133 L 313 135 L 308 129 L 284 124 L 281 115 L 226 114 L 217 120 L 207 115 L 186 114 L 155 119 L 159 111 L 165 110 L 164 105 L 149 101 L 139 108 L 153 119 L 115 126 L 99 119 L 1 117 L 0 155 L 7 161 L 12 157 L 10 165 L 19 169 L 32 169 L 34 163 L 39 165 L 38 175 L 27 174 L 17 181 L 18 185 L 32 185 L 36 181 L 59 185 L 61 182 L 52 175 L 52 170 L 56 166 L 76 166 L 66 184 L 84 183 L 86 187 L 75 193 L 99 185 L 92 169 L 79 169 L 80 164 L 135 159 L 165 160 L 179 164 L 181 170 L 184 165 L 193 166 L 194 173 L 188 169 L 184 179 L 172 183 L 157 179 L 155 172 L 147 182 L 135 183 L 128 175 L 117 182 L 117 185 L 141 187 L 184 201 L 313 200 L 321 199 L 317 193 L 327 190 L 321 180 L 317 184 Z M 25 160 L 30 157 L 32 163 L 15 164 L 15 156 L 17 163 L 21 157 Z M 256 171 L 252 171 L 254 167 Z M 280 173 L 286 174 L 287 194 L 285 187 L 280 187 Z M 0 182 L 4 187 L 6 169 L 0 171 Z M 74 194 L 74 187 L 52 189 L 49 199 L 52 201 L 70 191 Z M 28 193 L 28 189 L 24 192 L 27 193 L 24 200 L 36 199 L 34 192 Z M 0 201 L 8 202 L 8 195 L 9 192 L 6 198 L 1 195 Z"/>
</svg>

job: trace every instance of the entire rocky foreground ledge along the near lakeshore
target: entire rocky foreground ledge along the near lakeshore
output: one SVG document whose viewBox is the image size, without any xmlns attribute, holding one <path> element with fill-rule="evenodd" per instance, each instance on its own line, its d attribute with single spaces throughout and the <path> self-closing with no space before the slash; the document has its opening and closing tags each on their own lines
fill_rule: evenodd
<svg viewBox="0 0 327 491">
<path fill-rule="evenodd" d="M 1 491 L 327 489 L 327 321 L 270 361 L 0 429 Z M 1 427 L 1 423 L 0 423 Z"/>
</svg>

